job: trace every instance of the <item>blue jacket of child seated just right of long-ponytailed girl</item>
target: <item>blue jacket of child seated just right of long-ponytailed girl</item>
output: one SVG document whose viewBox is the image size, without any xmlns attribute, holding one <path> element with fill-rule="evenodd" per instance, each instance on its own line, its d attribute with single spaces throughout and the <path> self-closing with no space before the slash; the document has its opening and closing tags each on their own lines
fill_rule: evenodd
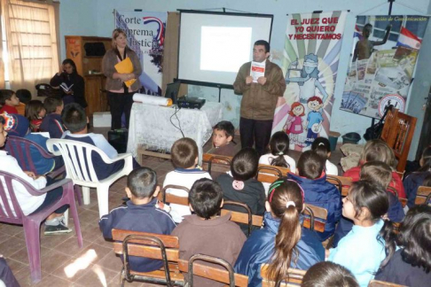
<svg viewBox="0 0 431 287">
<path fill-rule="evenodd" d="M 325 241 L 333 235 L 335 224 L 341 219 L 341 194 L 340 191 L 330 182 L 326 182 L 326 175 L 315 180 L 287 174 L 287 179 L 298 182 L 304 190 L 304 201 L 312 206 L 323 207 L 328 211 L 325 222 L 325 232 L 317 232 L 320 241 Z"/>
</svg>

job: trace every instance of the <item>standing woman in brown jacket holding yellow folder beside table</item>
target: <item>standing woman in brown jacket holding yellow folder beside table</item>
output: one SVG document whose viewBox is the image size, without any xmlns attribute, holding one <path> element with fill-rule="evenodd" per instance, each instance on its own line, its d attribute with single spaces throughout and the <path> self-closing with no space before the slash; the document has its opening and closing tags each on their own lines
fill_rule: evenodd
<svg viewBox="0 0 431 287">
<path fill-rule="evenodd" d="M 113 49 L 107 50 L 102 61 L 102 71 L 106 75 L 108 102 L 111 107 L 111 128 L 121 128 L 121 115 L 126 115 L 129 128 L 133 94 L 141 88 L 138 80 L 142 67 L 137 54 L 127 46 L 127 36 L 121 29 L 113 32 Z"/>
</svg>

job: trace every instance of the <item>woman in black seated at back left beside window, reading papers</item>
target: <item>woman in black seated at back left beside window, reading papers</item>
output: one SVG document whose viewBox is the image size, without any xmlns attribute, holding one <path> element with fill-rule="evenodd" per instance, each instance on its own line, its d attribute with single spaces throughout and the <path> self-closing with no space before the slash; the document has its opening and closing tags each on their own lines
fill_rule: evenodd
<svg viewBox="0 0 431 287">
<path fill-rule="evenodd" d="M 74 61 L 67 58 L 63 61 L 61 71 L 54 74 L 50 85 L 55 89 L 61 90 L 64 105 L 78 103 L 83 108 L 87 107 L 84 96 L 84 81 L 82 76 L 76 72 Z"/>
</svg>

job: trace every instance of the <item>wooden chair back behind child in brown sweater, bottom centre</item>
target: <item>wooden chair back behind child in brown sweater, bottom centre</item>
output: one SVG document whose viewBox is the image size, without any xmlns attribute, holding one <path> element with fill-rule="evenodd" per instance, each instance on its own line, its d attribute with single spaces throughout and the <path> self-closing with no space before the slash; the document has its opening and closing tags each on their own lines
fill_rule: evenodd
<svg viewBox="0 0 431 287">
<path fill-rule="evenodd" d="M 210 262 L 213 264 L 217 264 L 222 266 L 224 269 L 210 267 L 207 265 L 203 265 L 200 263 L 196 263 L 197 260 L 202 260 L 206 262 Z M 231 264 L 227 261 L 203 254 L 195 254 L 193 255 L 189 261 L 186 260 L 178 260 L 178 268 L 181 272 L 187 273 L 187 283 L 188 286 L 196 286 L 193 283 L 193 276 L 198 275 L 210 280 L 214 280 L 220 283 L 228 284 L 230 287 L 247 287 L 248 285 L 248 277 L 247 275 L 240 275 L 234 273 Z M 192 269 L 192 272 L 189 273 L 189 270 Z"/>
</svg>

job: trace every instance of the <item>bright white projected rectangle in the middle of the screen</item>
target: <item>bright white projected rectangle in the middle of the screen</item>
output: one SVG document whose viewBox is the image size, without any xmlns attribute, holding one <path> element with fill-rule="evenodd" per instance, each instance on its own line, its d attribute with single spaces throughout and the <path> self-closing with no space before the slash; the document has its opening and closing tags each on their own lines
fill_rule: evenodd
<svg viewBox="0 0 431 287">
<path fill-rule="evenodd" d="M 249 60 L 251 27 L 202 27 L 200 69 L 238 72 Z"/>
</svg>

